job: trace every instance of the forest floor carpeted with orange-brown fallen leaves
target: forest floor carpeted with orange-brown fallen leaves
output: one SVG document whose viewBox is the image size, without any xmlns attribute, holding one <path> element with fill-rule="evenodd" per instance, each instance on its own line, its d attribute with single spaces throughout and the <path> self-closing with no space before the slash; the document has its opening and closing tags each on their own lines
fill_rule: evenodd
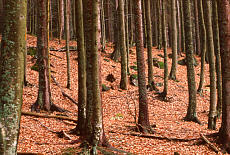
<svg viewBox="0 0 230 155">
<path fill-rule="evenodd" d="M 36 38 L 28 36 L 27 46 L 35 47 Z M 60 49 L 65 46 L 65 41 L 61 44 L 58 40 L 50 41 L 50 46 Z M 71 46 L 76 46 L 76 42 L 71 42 Z M 146 50 L 146 49 L 145 49 Z M 141 136 L 135 129 L 135 116 L 138 115 L 138 87 L 128 85 L 128 90 L 119 88 L 120 81 L 120 63 L 112 61 L 109 56 L 113 51 L 111 44 L 107 44 L 106 52 L 102 53 L 102 83 L 112 87 L 109 91 L 102 92 L 103 114 L 105 134 L 109 143 L 120 150 L 134 154 L 215 154 L 215 152 L 206 144 L 202 143 L 200 134 L 208 135 L 218 132 L 221 120 L 217 120 L 217 130 L 208 130 L 208 111 L 209 111 L 209 74 L 208 65 L 205 65 L 205 84 L 203 95 L 197 95 L 197 115 L 202 125 L 193 122 L 185 122 L 183 118 L 186 115 L 188 106 L 188 86 L 186 66 L 178 65 L 177 82 L 169 80 L 168 84 L 168 102 L 160 100 L 155 91 L 148 91 L 149 119 L 151 125 L 154 125 L 155 134 L 148 138 Z M 147 52 L 145 52 L 147 53 Z M 162 50 L 153 48 L 153 57 L 163 61 L 159 54 L 163 55 Z M 168 50 L 171 53 L 171 50 Z M 72 51 L 71 58 L 71 89 L 66 88 L 66 55 L 65 52 L 51 51 L 51 71 L 65 93 L 71 96 L 75 101 L 78 100 L 78 67 L 77 53 Z M 54 56 L 55 55 L 55 56 Z M 184 55 L 184 54 L 183 54 Z M 145 54 L 147 59 L 147 55 Z M 184 59 L 180 57 L 179 59 Z M 169 60 L 169 69 L 171 68 L 171 59 Z M 197 57 L 199 66 L 195 67 L 196 84 L 199 84 L 200 59 Z M 36 60 L 31 56 L 27 57 L 27 80 L 29 85 L 24 88 L 23 111 L 30 111 L 31 105 L 36 101 L 38 91 L 38 72 L 31 70 Z M 136 65 L 135 48 L 130 49 L 130 65 Z M 170 71 L 170 70 L 169 70 Z M 130 69 L 131 74 L 136 71 Z M 158 89 L 163 91 L 163 69 L 154 67 L 154 80 Z M 106 76 L 113 74 L 115 82 L 106 81 Z M 147 65 L 146 65 L 147 75 Z M 65 115 L 77 119 L 77 105 L 69 99 L 63 97 L 60 88 L 55 83 L 51 83 L 53 102 L 70 112 Z M 135 109 L 137 109 L 135 112 Z M 46 112 L 42 112 L 47 114 Z M 136 113 L 136 114 L 135 114 Z M 54 114 L 59 114 L 54 112 Z M 136 120 L 137 121 L 137 120 Z M 18 152 L 33 152 L 43 154 L 77 154 L 80 152 L 80 142 L 72 144 L 73 140 L 79 140 L 78 136 L 69 135 L 71 140 L 59 138 L 57 134 L 49 131 L 65 131 L 68 133 L 75 128 L 74 123 L 58 120 L 54 118 L 36 118 L 22 115 L 21 130 L 19 136 Z M 47 128 L 46 128 L 47 127 Z M 189 140 L 186 142 L 186 140 Z M 195 140 L 191 140 L 195 139 Z M 212 138 L 209 138 L 211 141 Z M 216 145 L 214 143 L 214 145 Z M 121 153 L 118 153 L 121 154 Z"/>
</svg>

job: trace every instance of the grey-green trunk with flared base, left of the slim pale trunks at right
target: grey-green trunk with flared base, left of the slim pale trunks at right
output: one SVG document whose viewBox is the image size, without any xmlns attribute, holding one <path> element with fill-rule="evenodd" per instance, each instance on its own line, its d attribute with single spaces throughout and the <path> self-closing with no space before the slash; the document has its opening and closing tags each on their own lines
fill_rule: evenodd
<svg viewBox="0 0 230 155">
<path fill-rule="evenodd" d="M 200 123 L 196 115 L 196 81 L 194 72 L 194 56 L 193 56 L 193 40 L 192 40 L 192 21 L 191 21 L 191 2 L 190 0 L 183 1 L 184 12 L 184 29 L 185 29 L 185 51 L 187 62 L 187 78 L 189 91 L 189 105 L 186 121 L 194 121 Z"/>
</svg>

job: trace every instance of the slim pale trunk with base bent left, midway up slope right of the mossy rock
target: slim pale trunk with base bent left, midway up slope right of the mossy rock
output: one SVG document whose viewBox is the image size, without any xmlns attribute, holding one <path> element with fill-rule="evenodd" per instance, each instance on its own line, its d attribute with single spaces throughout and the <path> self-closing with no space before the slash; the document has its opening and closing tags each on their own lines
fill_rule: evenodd
<svg viewBox="0 0 230 155">
<path fill-rule="evenodd" d="M 170 71 L 170 79 L 176 80 L 177 70 L 177 21 L 176 21 L 176 0 L 171 0 L 171 20 L 172 20 L 172 67 Z"/>
</svg>

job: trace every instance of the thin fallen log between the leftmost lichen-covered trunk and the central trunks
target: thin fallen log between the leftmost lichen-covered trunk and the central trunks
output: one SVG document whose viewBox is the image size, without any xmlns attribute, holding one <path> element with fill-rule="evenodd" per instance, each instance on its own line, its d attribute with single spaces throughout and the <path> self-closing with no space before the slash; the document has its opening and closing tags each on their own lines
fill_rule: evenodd
<svg viewBox="0 0 230 155">
<path fill-rule="evenodd" d="M 57 119 L 68 120 L 68 121 L 73 121 L 73 122 L 77 123 L 76 119 L 65 117 L 65 116 L 46 115 L 46 114 L 43 115 L 43 114 L 39 114 L 39 113 L 25 112 L 25 111 L 22 111 L 22 115 L 35 116 L 35 117 L 44 117 L 44 118 L 57 118 Z"/>
</svg>

